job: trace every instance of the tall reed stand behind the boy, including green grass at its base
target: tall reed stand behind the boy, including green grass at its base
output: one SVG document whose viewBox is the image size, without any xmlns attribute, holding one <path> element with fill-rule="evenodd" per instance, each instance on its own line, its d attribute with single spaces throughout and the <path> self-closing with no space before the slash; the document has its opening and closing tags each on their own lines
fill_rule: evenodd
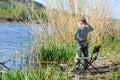
<svg viewBox="0 0 120 80">
<path fill-rule="evenodd" d="M 114 26 L 108 0 L 47 0 L 43 2 L 46 4 L 45 14 L 48 19 L 47 24 L 51 25 L 51 31 L 47 29 L 48 26 L 44 25 L 43 35 L 40 34 L 38 26 L 33 26 L 36 43 L 33 44 L 35 46 L 32 49 L 34 50 L 37 46 L 34 52 L 37 60 L 72 62 L 75 55 L 73 34 L 80 17 L 85 17 L 94 28 L 88 37 L 90 52 L 97 44 L 102 45 L 101 51 L 104 54 L 116 47 L 119 48 L 117 44 L 120 41 L 120 29 Z M 31 20 L 31 23 L 35 22 Z"/>
</svg>

